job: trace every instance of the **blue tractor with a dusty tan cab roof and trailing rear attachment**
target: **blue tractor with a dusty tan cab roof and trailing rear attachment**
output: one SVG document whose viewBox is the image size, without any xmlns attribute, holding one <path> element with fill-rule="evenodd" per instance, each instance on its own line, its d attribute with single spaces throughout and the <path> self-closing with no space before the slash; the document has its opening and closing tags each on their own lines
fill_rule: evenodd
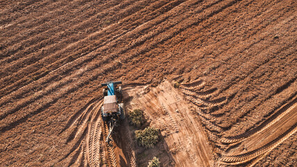
<svg viewBox="0 0 297 167">
<path fill-rule="evenodd" d="M 122 103 L 122 81 L 110 81 L 101 84 L 103 87 L 104 102 L 101 108 L 102 120 L 109 125 L 109 134 L 106 137 L 106 143 L 109 143 L 109 136 L 119 120 L 125 119 L 125 109 Z"/>
</svg>

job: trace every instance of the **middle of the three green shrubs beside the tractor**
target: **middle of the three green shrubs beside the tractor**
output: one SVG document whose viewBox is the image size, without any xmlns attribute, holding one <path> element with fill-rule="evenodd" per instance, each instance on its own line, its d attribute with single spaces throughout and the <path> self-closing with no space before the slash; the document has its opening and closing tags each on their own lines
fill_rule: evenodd
<svg viewBox="0 0 297 167">
<path fill-rule="evenodd" d="M 147 127 L 143 130 L 136 130 L 135 138 L 138 145 L 142 145 L 145 148 L 152 148 L 159 141 L 160 129 Z"/>
</svg>

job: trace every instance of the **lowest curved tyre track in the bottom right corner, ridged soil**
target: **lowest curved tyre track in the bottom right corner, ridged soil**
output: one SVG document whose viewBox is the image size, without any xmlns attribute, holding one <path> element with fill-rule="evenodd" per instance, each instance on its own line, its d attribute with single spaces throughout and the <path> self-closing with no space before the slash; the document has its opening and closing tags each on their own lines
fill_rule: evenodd
<svg viewBox="0 0 297 167">
<path fill-rule="evenodd" d="M 270 152 L 271 150 L 273 150 L 273 148 L 277 147 L 280 143 L 285 141 L 287 138 L 289 138 L 289 136 L 291 136 L 295 132 L 297 132 L 297 124 L 292 126 L 289 130 L 287 130 L 287 132 L 284 132 L 284 134 L 278 136 L 278 138 L 275 138 L 273 141 L 264 145 L 262 148 L 252 150 L 251 152 L 247 152 L 245 154 L 223 155 L 223 157 L 220 158 L 220 161 L 231 162 L 233 164 L 242 164 L 246 161 L 250 161 L 251 159 L 258 157 L 259 155 L 264 154 L 265 152 Z"/>
</svg>

